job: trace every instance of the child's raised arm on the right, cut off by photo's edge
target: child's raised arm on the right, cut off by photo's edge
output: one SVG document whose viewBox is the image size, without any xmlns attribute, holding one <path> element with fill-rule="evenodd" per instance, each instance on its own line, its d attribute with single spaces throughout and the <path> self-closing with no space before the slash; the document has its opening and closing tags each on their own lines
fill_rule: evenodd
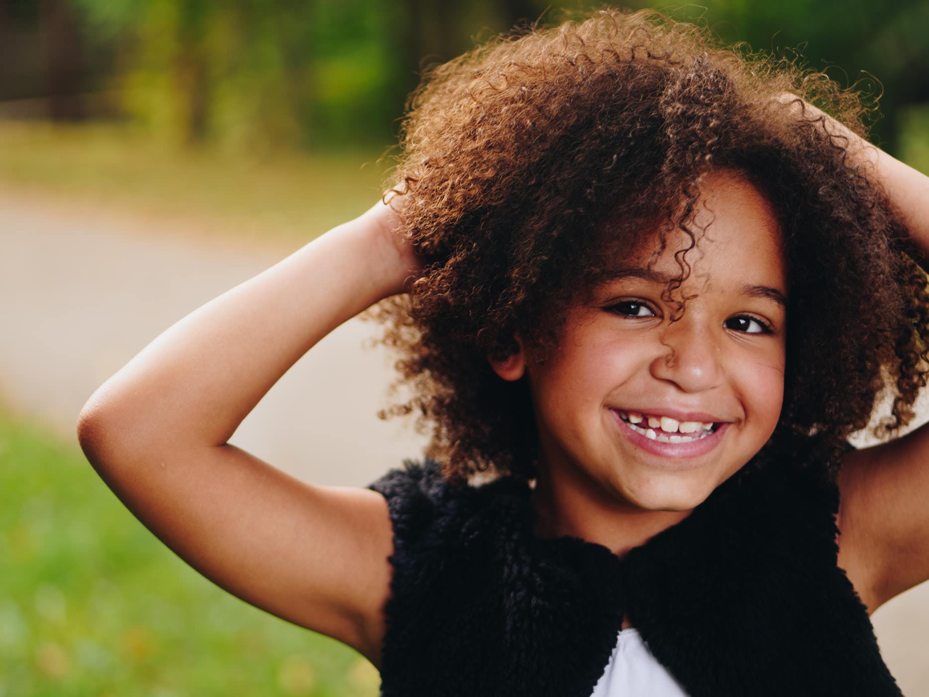
<svg viewBox="0 0 929 697">
<path fill-rule="evenodd" d="M 781 97 L 783 103 L 799 99 Z M 799 102 L 794 107 L 799 113 Z M 929 256 L 929 177 L 823 115 L 831 133 L 849 138 L 850 155 L 877 178 L 913 242 Z M 894 441 L 848 453 L 839 477 L 839 566 L 861 579 L 869 611 L 929 580 L 929 424 Z"/>
</svg>

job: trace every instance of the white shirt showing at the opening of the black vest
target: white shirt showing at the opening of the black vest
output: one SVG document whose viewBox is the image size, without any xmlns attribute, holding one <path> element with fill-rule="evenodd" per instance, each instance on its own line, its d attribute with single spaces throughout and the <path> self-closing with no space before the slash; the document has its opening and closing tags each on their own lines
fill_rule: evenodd
<svg viewBox="0 0 929 697">
<path fill-rule="evenodd" d="M 620 630 L 616 647 L 591 697 L 687 697 L 687 692 L 648 651 L 638 629 Z"/>
</svg>

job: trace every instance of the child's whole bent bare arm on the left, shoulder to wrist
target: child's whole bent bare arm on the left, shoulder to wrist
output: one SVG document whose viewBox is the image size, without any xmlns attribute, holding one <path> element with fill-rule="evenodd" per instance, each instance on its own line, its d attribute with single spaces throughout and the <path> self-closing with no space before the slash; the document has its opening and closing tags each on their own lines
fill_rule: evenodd
<svg viewBox="0 0 929 697">
<path fill-rule="evenodd" d="M 324 335 L 407 287 L 420 266 L 398 224 L 378 203 L 191 312 L 78 423 L 100 477 L 179 557 L 375 665 L 393 545 L 384 497 L 307 484 L 227 441 Z"/>
</svg>

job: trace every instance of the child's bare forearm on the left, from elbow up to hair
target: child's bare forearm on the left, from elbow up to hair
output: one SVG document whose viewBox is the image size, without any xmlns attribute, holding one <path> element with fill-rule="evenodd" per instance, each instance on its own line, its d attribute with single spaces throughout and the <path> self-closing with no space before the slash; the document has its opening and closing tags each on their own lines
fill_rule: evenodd
<svg viewBox="0 0 929 697">
<path fill-rule="evenodd" d="M 98 388 L 81 421 L 155 447 L 229 441 L 323 336 L 401 292 L 413 260 L 390 243 L 388 211 L 377 204 L 191 312 Z"/>
</svg>

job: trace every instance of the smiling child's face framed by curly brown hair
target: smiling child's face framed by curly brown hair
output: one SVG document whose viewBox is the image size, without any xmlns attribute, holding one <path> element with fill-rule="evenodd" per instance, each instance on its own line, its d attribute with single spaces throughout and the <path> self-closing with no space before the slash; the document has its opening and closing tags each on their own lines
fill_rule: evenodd
<svg viewBox="0 0 929 697">
<path fill-rule="evenodd" d="M 582 482 L 591 495 L 638 507 L 688 510 L 773 433 L 783 401 L 787 317 L 771 297 L 776 293 L 746 287 L 787 295 L 779 226 L 763 194 L 731 172 L 714 172 L 702 191 L 715 219 L 687 252 L 691 273 L 681 290 L 694 297 L 679 321 L 668 322 L 674 306 L 661 299 L 664 283 L 617 278 L 597 289 L 595 302 L 571 310 L 560 351 L 543 364 L 527 362 L 523 350 L 493 363 L 505 379 L 529 374 L 549 480 Z M 701 202 L 700 226 L 710 217 Z M 653 270 L 677 276 L 674 251 L 688 245 L 683 231 L 670 233 Z M 645 254 L 621 260 L 641 268 L 647 262 Z M 640 430 L 648 429 L 648 414 L 729 423 L 700 441 L 661 442 L 635 432 L 619 412 L 644 415 Z"/>
</svg>

